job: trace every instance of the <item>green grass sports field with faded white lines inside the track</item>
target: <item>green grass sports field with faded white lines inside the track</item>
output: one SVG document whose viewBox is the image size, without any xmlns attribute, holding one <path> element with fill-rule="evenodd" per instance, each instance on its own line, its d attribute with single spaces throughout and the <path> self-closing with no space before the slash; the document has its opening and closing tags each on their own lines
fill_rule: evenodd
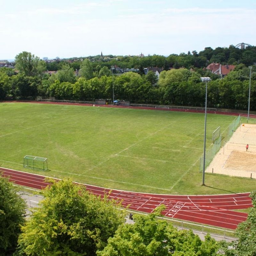
<svg viewBox="0 0 256 256">
<path fill-rule="evenodd" d="M 256 181 L 199 172 L 204 114 L 72 105 L 0 103 L 0 166 L 107 188 L 161 194 L 248 192 Z M 234 116 L 207 115 L 212 132 Z M 48 158 L 48 171 L 23 167 Z"/>
</svg>

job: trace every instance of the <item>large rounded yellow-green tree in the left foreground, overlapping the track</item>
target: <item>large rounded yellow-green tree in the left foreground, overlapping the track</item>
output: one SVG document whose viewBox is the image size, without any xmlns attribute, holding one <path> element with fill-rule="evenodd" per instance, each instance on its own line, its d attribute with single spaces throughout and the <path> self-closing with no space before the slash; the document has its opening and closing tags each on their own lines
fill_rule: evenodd
<svg viewBox="0 0 256 256">
<path fill-rule="evenodd" d="M 96 255 L 124 222 L 116 202 L 90 194 L 69 180 L 52 182 L 44 200 L 22 227 L 19 255 Z"/>
</svg>

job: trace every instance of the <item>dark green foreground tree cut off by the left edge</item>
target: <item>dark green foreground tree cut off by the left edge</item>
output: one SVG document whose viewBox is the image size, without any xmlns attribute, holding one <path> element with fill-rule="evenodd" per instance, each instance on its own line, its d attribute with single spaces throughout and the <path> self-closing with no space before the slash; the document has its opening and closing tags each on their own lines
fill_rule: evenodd
<svg viewBox="0 0 256 256">
<path fill-rule="evenodd" d="M 26 203 L 7 178 L 0 177 L 0 255 L 12 255 L 25 222 Z"/>
</svg>

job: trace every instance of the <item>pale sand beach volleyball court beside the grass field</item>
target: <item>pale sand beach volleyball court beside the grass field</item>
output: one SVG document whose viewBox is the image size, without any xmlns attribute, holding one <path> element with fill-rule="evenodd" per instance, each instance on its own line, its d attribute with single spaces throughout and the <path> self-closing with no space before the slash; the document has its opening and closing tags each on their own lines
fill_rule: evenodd
<svg viewBox="0 0 256 256">
<path fill-rule="evenodd" d="M 205 172 L 256 179 L 256 125 L 241 124 Z"/>
</svg>

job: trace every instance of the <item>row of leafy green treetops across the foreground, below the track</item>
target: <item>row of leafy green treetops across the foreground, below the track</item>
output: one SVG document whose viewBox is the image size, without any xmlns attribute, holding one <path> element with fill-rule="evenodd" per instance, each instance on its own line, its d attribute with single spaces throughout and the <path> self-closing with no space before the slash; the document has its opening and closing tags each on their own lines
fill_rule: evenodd
<svg viewBox="0 0 256 256">
<path fill-rule="evenodd" d="M 44 199 L 25 219 L 25 202 L 0 177 L 0 255 L 255 255 L 256 191 L 247 220 L 236 229 L 238 240 L 228 243 L 209 234 L 202 241 L 191 230 L 158 219 L 164 205 L 149 215 L 135 214 L 128 224 L 121 203 L 108 195 L 94 196 L 70 179 L 48 181 L 52 185 L 42 191 Z"/>
</svg>

